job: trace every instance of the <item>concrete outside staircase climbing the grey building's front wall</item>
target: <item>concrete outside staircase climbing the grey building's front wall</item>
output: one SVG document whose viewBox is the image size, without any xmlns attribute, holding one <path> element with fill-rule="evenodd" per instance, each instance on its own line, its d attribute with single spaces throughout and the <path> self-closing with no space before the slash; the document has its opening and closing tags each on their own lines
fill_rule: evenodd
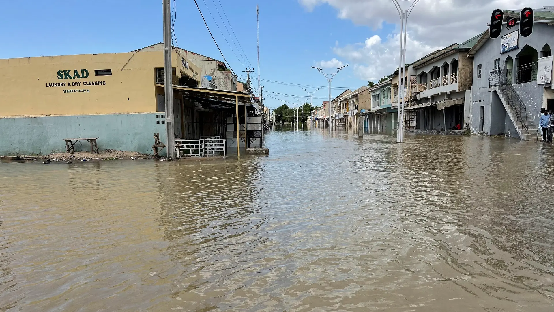
<svg viewBox="0 0 554 312">
<path fill-rule="evenodd" d="M 525 104 L 519 98 L 511 85 L 500 85 L 496 87 L 502 105 L 515 125 L 517 134 L 522 140 L 536 140 L 538 125 L 532 115 L 527 113 Z"/>
</svg>

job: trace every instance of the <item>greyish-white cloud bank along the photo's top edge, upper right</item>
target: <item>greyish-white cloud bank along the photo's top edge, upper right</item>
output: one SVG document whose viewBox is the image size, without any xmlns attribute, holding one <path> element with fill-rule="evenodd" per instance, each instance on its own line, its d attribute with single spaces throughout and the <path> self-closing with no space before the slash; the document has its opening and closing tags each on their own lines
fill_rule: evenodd
<svg viewBox="0 0 554 312">
<path fill-rule="evenodd" d="M 551 0 L 550 0 L 551 1 Z M 312 10 L 329 4 L 338 10 L 338 17 L 373 29 L 383 22 L 399 24 L 398 11 L 391 0 L 299 0 Z M 413 1 L 399 1 L 407 9 Z M 420 0 L 408 19 L 408 32 L 414 39 L 429 46 L 449 46 L 487 29 L 490 14 L 496 8 L 542 8 L 548 0 Z M 397 27 L 398 28 L 398 27 Z"/>
</svg>

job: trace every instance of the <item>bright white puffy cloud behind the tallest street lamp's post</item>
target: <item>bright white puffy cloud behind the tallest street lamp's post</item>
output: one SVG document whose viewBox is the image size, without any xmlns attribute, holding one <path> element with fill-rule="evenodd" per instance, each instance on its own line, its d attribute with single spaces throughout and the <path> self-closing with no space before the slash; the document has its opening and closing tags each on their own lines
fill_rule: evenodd
<svg viewBox="0 0 554 312">
<path fill-rule="evenodd" d="M 353 63 L 353 72 L 362 80 L 376 81 L 391 74 L 400 67 L 399 35 L 389 35 L 383 41 L 379 36 L 367 38 L 365 43 L 349 44 L 345 47 L 336 46 L 333 52 L 348 62 Z M 418 42 L 412 37 L 406 38 L 406 62 L 411 63 L 439 49 Z"/>
</svg>

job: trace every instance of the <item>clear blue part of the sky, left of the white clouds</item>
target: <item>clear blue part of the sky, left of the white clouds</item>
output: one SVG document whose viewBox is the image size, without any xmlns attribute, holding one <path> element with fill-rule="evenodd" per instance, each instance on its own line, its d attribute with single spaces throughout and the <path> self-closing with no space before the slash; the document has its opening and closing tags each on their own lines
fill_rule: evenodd
<svg viewBox="0 0 554 312">
<path fill-rule="evenodd" d="M 235 48 L 214 3 L 219 10 L 225 10 L 246 58 L 237 57 L 242 50 L 238 52 Z M 245 66 L 256 68 L 257 2 L 198 0 L 198 4 L 233 70 L 243 75 Z M 214 23 L 206 4 L 225 36 Z M 330 6 L 320 6 L 308 12 L 296 0 L 260 1 L 259 4 L 260 68 L 263 79 L 327 85 L 325 78 L 310 66 L 336 57 L 332 47 L 337 40 L 339 43 L 363 42 L 374 33 L 368 27 L 355 26 L 351 21 L 338 19 L 336 9 Z M 163 41 L 161 1 L 12 1 L 3 3 L 2 7 L 0 28 L 9 31 L 1 32 L 0 39 L 9 44 L 0 47 L 0 58 L 128 52 Z M 176 8 L 175 32 L 179 47 L 222 59 L 194 1 L 176 0 Z M 223 12 L 220 13 L 227 22 Z M 230 28 L 229 31 L 233 36 Z M 355 77 L 351 68 L 338 74 L 333 82 L 337 87 L 367 84 L 367 81 Z M 293 103 L 306 98 L 281 97 L 269 93 L 304 94 L 299 87 L 271 82 L 262 84 L 268 91 L 266 94 L 273 97 Z M 340 90 L 334 89 L 334 94 L 338 93 Z M 326 97 L 327 89 L 322 88 L 316 93 L 318 96 Z M 314 102 L 321 100 L 314 99 Z M 279 100 L 270 97 L 266 98 L 266 103 L 270 107 L 281 104 Z"/>
</svg>

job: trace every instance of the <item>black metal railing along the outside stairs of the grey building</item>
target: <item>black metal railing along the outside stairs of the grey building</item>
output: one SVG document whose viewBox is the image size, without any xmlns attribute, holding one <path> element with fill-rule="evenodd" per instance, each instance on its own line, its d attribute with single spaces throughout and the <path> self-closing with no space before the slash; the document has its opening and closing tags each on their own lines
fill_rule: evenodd
<svg viewBox="0 0 554 312">
<path fill-rule="evenodd" d="M 489 73 L 489 88 L 497 87 L 500 90 L 502 97 L 510 105 L 514 111 L 517 121 L 521 123 L 521 130 L 525 130 L 529 134 L 529 125 L 527 125 L 527 108 L 521 100 L 519 94 L 509 82 L 502 68 L 491 69 Z"/>
</svg>

